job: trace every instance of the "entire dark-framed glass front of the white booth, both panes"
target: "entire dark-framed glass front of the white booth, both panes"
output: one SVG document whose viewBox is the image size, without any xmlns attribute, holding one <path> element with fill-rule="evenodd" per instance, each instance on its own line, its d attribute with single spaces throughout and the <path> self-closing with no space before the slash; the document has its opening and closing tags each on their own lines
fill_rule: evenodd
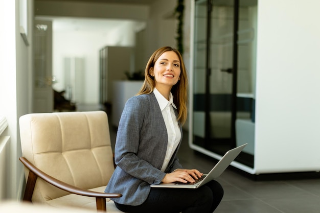
<svg viewBox="0 0 320 213">
<path fill-rule="evenodd" d="M 192 143 L 219 155 L 238 145 L 236 121 L 252 114 L 254 4 L 195 1 Z"/>
</svg>

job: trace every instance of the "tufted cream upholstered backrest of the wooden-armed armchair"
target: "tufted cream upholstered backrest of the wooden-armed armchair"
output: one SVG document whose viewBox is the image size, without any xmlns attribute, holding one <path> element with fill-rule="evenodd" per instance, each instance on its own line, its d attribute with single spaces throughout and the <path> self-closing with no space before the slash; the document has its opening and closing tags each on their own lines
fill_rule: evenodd
<svg viewBox="0 0 320 213">
<path fill-rule="evenodd" d="M 19 126 L 22 156 L 38 169 L 86 190 L 107 185 L 115 169 L 105 112 L 26 114 Z M 67 194 L 38 178 L 32 201 Z"/>
</svg>

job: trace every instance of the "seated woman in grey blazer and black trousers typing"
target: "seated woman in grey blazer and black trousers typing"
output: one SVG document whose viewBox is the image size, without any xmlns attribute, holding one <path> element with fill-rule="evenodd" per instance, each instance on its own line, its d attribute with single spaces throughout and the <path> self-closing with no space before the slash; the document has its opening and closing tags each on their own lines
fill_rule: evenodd
<svg viewBox="0 0 320 213">
<path fill-rule="evenodd" d="M 137 96 L 122 112 L 115 147 L 117 168 L 105 192 L 124 212 L 213 212 L 223 190 L 211 181 L 196 190 L 152 188 L 151 184 L 194 182 L 203 174 L 183 169 L 176 157 L 182 124 L 187 118 L 187 73 L 180 53 L 165 46 L 156 50 L 145 69 Z"/>
</svg>

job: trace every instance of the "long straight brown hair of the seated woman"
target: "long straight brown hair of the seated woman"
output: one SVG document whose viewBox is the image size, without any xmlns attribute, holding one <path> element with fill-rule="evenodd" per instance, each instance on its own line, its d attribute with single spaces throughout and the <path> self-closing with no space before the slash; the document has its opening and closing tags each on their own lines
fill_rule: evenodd
<svg viewBox="0 0 320 213">
<path fill-rule="evenodd" d="M 158 60 L 158 58 L 167 51 L 175 52 L 180 60 L 180 80 L 175 85 L 173 85 L 173 87 L 171 88 L 171 93 L 173 96 L 173 103 L 176 105 L 178 109 L 177 120 L 180 122 L 181 125 L 183 125 L 187 120 L 188 77 L 185 63 L 178 50 L 173 49 L 170 46 L 164 46 L 163 48 L 159 48 L 158 50 L 156 50 L 151 55 L 145 69 L 145 80 L 137 95 L 150 94 L 153 91 L 155 87 L 155 81 L 154 77 L 150 75 L 149 70 L 151 67 L 154 67 L 156 60 Z"/>
</svg>

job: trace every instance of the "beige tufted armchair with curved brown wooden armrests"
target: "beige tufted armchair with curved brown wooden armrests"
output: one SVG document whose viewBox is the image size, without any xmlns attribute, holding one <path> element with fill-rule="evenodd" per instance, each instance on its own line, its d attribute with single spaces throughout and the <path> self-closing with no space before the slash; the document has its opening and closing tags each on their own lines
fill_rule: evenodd
<svg viewBox="0 0 320 213">
<path fill-rule="evenodd" d="M 107 114 L 56 112 L 19 119 L 25 201 L 122 212 L 104 193 L 115 170 Z"/>
</svg>

